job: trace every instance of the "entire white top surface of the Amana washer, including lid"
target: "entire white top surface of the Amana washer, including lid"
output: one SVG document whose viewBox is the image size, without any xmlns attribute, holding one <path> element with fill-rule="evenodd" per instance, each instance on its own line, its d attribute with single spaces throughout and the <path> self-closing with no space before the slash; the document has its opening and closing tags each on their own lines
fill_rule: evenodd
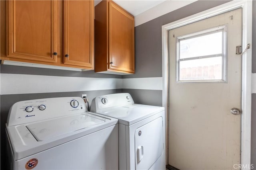
<svg viewBox="0 0 256 170">
<path fill-rule="evenodd" d="M 118 119 L 112 117 L 82 112 L 34 123 L 14 126 L 7 126 L 6 124 L 6 134 L 12 148 L 14 160 L 20 160 L 43 150 L 106 129 L 117 123 Z"/>
</svg>

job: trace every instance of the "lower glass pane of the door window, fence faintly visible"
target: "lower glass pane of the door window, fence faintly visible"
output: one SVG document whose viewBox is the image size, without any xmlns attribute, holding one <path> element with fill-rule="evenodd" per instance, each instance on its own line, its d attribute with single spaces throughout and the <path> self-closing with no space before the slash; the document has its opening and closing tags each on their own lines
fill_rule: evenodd
<svg viewBox="0 0 256 170">
<path fill-rule="evenodd" d="M 180 80 L 222 80 L 222 57 L 180 61 Z"/>
</svg>

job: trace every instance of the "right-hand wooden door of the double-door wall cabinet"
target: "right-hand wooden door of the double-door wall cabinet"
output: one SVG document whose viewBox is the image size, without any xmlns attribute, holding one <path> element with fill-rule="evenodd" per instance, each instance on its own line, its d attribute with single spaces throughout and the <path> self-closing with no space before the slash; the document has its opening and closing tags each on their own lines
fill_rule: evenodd
<svg viewBox="0 0 256 170">
<path fill-rule="evenodd" d="M 93 68 L 94 1 L 64 1 L 64 64 Z"/>
</svg>

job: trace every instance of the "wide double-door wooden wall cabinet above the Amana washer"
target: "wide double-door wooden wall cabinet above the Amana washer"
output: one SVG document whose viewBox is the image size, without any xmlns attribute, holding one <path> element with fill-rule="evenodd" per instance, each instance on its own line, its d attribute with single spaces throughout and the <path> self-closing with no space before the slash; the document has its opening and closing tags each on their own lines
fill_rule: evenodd
<svg viewBox="0 0 256 170">
<path fill-rule="evenodd" d="M 94 68 L 93 0 L 10 0 L 6 12 L 2 60 Z"/>
</svg>

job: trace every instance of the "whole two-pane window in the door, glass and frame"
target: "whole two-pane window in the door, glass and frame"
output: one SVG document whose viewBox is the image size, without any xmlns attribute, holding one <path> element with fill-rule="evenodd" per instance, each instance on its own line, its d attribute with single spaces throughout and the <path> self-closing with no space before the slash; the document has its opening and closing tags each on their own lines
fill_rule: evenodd
<svg viewBox="0 0 256 170">
<path fill-rule="evenodd" d="M 226 82 L 226 27 L 177 37 L 177 82 Z"/>
</svg>

